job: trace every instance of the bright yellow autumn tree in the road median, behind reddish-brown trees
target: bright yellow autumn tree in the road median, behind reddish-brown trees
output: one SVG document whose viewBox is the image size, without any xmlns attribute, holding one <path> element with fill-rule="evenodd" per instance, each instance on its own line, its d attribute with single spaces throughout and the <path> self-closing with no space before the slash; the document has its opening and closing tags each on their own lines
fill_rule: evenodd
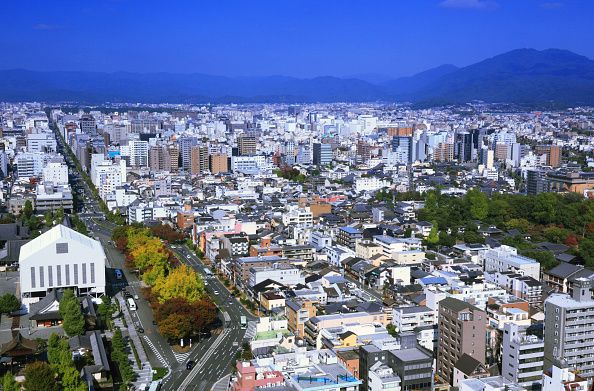
<svg viewBox="0 0 594 391">
<path fill-rule="evenodd" d="M 166 277 L 157 279 L 153 292 L 159 297 L 160 303 L 176 297 L 193 303 L 204 295 L 204 281 L 194 269 L 182 264 Z"/>
</svg>

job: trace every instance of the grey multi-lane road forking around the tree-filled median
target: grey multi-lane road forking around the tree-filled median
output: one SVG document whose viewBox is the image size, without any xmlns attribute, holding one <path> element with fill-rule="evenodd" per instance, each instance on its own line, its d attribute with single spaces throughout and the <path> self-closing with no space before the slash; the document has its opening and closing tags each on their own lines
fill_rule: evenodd
<svg viewBox="0 0 594 391">
<path fill-rule="evenodd" d="M 55 128 L 54 128 L 55 129 Z M 168 367 L 168 375 L 163 383 L 162 390 L 209 390 L 212 385 L 232 370 L 236 353 L 241 349 L 245 330 L 240 327 L 240 317 L 248 319 L 254 317 L 233 298 L 224 285 L 214 277 L 205 274 L 205 266 L 200 259 L 185 246 L 171 246 L 180 259 L 192 266 L 207 281 L 207 290 L 212 296 L 223 318 L 223 329 L 218 335 L 193 341 L 192 349 L 184 354 L 174 352 L 167 340 L 163 338 L 153 323 L 152 310 L 146 300 L 142 298 L 141 282 L 138 277 L 124 267 L 124 256 L 111 243 L 111 234 L 115 225 L 105 220 L 101 213 L 99 203 L 93 198 L 93 193 L 87 183 L 82 179 L 82 174 L 76 172 L 75 162 L 71 159 L 63 145 L 61 137 L 57 137 L 58 151 L 61 152 L 70 167 L 70 180 L 73 190 L 82 195 L 82 205 L 78 211 L 79 217 L 87 224 L 90 236 L 97 238 L 105 249 L 108 260 L 108 289 L 113 295 L 115 292 L 126 288 L 132 295 L 138 295 L 137 310 L 132 312 L 133 321 L 137 328 L 142 328 L 145 351 L 153 367 Z M 124 280 L 117 280 L 113 273 L 114 268 L 122 269 Z M 227 321 L 225 321 L 225 319 Z M 188 361 L 196 365 L 186 369 Z"/>
</svg>

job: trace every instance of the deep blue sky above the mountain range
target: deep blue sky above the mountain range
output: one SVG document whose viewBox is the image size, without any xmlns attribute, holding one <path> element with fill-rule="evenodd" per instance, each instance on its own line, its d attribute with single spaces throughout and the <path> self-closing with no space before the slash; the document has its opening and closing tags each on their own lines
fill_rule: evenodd
<svg viewBox="0 0 594 391">
<path fill-rule="evenodd" d="M 44 0 L 1 7 L 0 69 L 396 77 L 523 47 L 594 58 L 590 0 Z"/>
</svg>

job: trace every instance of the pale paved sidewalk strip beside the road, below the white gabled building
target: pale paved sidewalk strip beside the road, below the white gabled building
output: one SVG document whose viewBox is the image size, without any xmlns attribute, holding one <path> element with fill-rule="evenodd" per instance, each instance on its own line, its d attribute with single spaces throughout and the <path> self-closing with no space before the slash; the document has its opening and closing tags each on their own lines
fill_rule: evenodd
<svg viewBox="0 0 594 391">
<path fill-rule="evenodd" d="M 153 368 L 146 356 L 146 352 L 144 351 L 144 346 L 136 332 L 136 328 L 134 327 L 134 322 L 132 321 L 132 317 L 130 316 L 130 312 L 128 311 L 128 307 L 126 306 L 126 301 L 121 293 L 116 294 L 116 299 L 120 304 L 120 309 L 122 314 L 124 315 L 124 319 L 126 320 L 126 324 L 128 327 L 124 327 L 124 323 L 121 319 L 117 318 L 114 319 L 114 324 L 120 330 L 122 330 L 122 334 L 128 334 L 130 343 L 134 344 L 134 348 L 136 348 L 136 352 L 138 353 L 138 358 L 141 363 L 141 367 L 138 368 L 136 365 L 136 358 L 134 357 L 134 352 L 132 348 L 130 348 L 130 352 L 128 352 L 128 360 L 132 362 L 132 368 L 134 372 L 137 374 L 137 379 L 134 381 L 134 386 L 138 389 L 141 385 L 148 386 L 150 385 L 151 381 L 153 380 Z M 126 333 L 127 332 L 127 333 Z"/>
</svg>

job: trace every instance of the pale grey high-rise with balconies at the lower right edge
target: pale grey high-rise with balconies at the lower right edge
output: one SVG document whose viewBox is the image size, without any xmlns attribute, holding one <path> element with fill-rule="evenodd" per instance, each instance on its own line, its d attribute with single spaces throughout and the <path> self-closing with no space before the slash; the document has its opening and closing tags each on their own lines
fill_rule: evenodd
<svg viewBox="0 0 594 391">
<path fill-rule="evenodd" d="M 576 278 L 571 295 L 551 294 L 544 312 L 544 367 L 563 362 L 584 378 L 594 377 L 592 281 Z"/>
</svg>

